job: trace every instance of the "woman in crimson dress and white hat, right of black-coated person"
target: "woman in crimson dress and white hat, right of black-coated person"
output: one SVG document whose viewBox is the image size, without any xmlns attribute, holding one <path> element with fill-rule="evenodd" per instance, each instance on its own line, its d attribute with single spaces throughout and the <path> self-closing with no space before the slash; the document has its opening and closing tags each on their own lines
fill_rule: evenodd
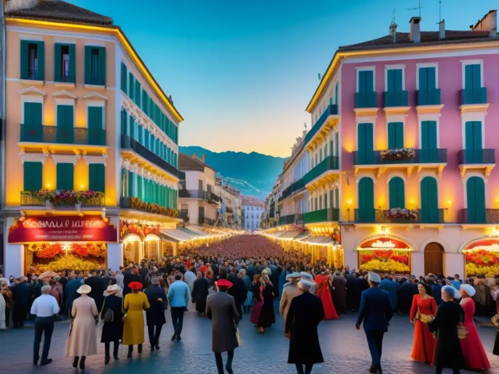
<svg viewBox="0 0 499 374">
<path fill-rule="evenodd" d="M 466 366 L 471 370 L 487 370 L 491 364 L 485 353 L 484 346 L 478 335 L 477 326 L 473 320 L 475 314 L 475 302 L 472 300 L 475 295 L 475 288 L 470 284 L 461 285 L 461 307 L 465 311 L 465 320 L 463 325 L 468 329 L 468 335 L 461 339 L 461 349 L 465 357 Z"/>
</svg>

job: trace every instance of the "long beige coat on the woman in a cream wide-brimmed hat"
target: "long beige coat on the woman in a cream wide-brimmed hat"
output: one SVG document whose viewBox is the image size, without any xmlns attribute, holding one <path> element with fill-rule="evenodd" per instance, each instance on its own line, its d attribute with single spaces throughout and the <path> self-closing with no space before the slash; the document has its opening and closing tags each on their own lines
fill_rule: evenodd
<svg viewBox="0 0 499 374">
<path fill-rule="evenodd" d="M 73 327 L 69 325 L 70 335 L 67 338 L 65 356 L 97 355 L 97 328 L 94 316 L 99 311 L 94 299 L 82 294 L 73 301 L 71 316 Z"/>
</svg>

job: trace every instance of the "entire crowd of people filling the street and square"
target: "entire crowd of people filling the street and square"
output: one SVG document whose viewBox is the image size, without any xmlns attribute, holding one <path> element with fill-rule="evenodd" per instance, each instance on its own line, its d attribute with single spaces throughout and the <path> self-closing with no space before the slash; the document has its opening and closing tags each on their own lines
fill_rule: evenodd
<svg viewBox="0 0 499 374">
<path fill-rule="evenodd" d="M 171 340 L 181 341 L 184 313 L 193 304 L 199 316 L 212 319 L 214 331 L 228 332 L 229 338 L 214 334 L 212 345 L 219 373 L 224 372 L 220 353 L 229 352 L 226 370 L 231 373 L 238 346 L 237 324 L 245 320 L 246 313 L 257 332 L 264 334 L 275 323 L 274 301 L 279 301 L 278 312 L 284 317 L 285 335 L 290 338 L 288 362 L 296 365 L 298 373 L 310 373 L 313 364 L 322 362 L 318 336 L 313 333 L 318 323 L 341 318 L 347 311 L 359 313 L 359 326 L 363 322 L 373 358 L 371 373 L 382 372 L 382 337 L 393 313 L 407 314 L 414 326 L 412 359 L 435 365 L 437 373 L 444 367 L 455 369 L 455 373 L 464 368 L 486 370 L 490 363 L 473 317 L 492 317 L 499 312 L 494 278 L 462 280 L 457 274 L 449 278 L 443 274 L 417 278 L 360 272 L 348 266 L 335 269 L 325 261 L 312 263 L 303 253 L 283 251 L 259 235 L 240 235 L 179 256 L 142 260 L 115 270 L 67 269 L 8 280 L 0 277 L 0 288 L 0 330 L 21 328 L 26 320 L 34 322 L 33 364 L 51 362 L 48 352 L 54 320 L 69 318 L 65 355 L 73 357 L 73 367 L 80 369 L 84 369 L 87 356 L 97 354 L 95 326 L 99 321 L 104 362 L 108 364 L 111 343 L 115 360 L 119 359 L 120 344 L 128 346 L 128 358 L 134 346 L 139 354 L 142 352 L 145 325 L 150 350 L 159 350 L 167 308 L 174 328 Z M 389 308 L 377 310 L 379 319 L 385 320 L 372 320 L 376 313 L 366 314 L 366 309 L 375 308 L 376 303 L 383 305 L 374 300 L 385 298 Z M 461 330 L 455 328 L 454 332 L 466 333 L 459 337 L 449 333 L 453 318 L 443 317 L 457 312 Z M 231 323 L 227 325 L 227 321 Z M 436 335 L 439 339 L 435 339 Z M 309 344 L 303 345 L 303 341 Z M 459 348 L 462 363 L 449 361 L 449 347 L 456 352 Z M 499 338 L 494 354 L 499 355 Z"/>
</svg>

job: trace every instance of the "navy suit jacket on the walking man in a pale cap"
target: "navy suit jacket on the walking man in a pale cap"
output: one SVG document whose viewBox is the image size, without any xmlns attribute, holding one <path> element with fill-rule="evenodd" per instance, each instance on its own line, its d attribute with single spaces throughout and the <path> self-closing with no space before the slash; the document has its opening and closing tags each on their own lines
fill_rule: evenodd
<svg viewBox="0 0 499 374">
<path fill-rule="evenodd" d="M 388 323 L 393 317 L 392 303 L 387 291 L 371 287 L 362 292 L 357 326 L 364 321 L 365 331 L 388 331 Z"/>
</svg>

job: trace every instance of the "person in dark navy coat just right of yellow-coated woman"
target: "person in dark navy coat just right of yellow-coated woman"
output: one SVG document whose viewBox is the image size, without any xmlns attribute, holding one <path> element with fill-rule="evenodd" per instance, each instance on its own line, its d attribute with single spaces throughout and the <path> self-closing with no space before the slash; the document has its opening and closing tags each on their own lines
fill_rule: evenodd
<svg viewBox="0 0 499 374">
<path fill-rule="evenodd" d="M 146 309 L 146 323 L 149 332 L 149 342 L 151 343 L 151 352 L 156 348 L 159 350 L 159 336 L 161 329 L 166 323 L 166 294 L 165 290 L 159 286 L 159 279 L 152 278 L 151 285 L 144 290 L 147 296 L 149 309 Z M 154 331 L 156 328 L 156 331 Z"/>
</svg>

